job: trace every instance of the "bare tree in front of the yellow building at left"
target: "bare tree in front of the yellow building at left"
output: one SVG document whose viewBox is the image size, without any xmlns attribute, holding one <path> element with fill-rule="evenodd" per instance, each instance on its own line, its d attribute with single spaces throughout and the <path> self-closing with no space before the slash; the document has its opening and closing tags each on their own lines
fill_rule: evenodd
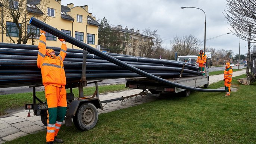
<svg viewBox="0 0 256 144">
<path fill-rule="evenodd" d="M 33 16 L 40 19 L 43 22 L 47 22 L 50 19 L 47 17 L 47 4 L 49 0 L 0 0 L 2 15 L 0 30 L 3 34 L 6 34 L 10 41 L 18 44 L 26 44 L 29 38 L 32 38 L 32 44 L 34 37 L 39 34 L 39 29 L 35 26 L 28 25 L 28 21 Z M 18 35 L 12 35 L 12 31 L 18 31 Z M 18 37 L 18 38 L 14 38 Z"/>
</svg>

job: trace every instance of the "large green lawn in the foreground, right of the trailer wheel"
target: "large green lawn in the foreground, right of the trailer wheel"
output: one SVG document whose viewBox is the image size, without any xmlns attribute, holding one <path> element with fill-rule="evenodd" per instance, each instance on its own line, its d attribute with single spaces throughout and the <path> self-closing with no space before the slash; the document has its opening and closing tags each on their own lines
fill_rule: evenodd
<svg viewBox="0 0 256 144">
<path fill-rule="evenodd" d="M 244 78 L 246 75 L 235 78 Z M 224 82 L 209 88 L 223 87 Z M 225 93 L 192 92 L 189 97 L 173 94 L 127 109 L 99 115 L 96 126 L 79 131 L 62 126 L 64 144 L 173 144 L 173 143 L 256 143 L 255 86 L 241 85 Z M 44 144 L 46 132 L 38 132 L 6 144 Z"/>
</svg>

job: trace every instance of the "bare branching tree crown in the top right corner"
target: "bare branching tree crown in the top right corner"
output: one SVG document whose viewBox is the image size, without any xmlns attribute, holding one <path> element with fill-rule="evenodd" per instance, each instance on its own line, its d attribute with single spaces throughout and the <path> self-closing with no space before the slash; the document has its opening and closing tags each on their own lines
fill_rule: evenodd
<svg viewBox="0 0 256 144">
<path fill-rule="evenodd" d="M 252 34 L 256 34 L 256 0 L 227 0 L 224 11 L 227 23 L 238 37 L 248 40 L 249 25 Z M 251 35 L 251 39 L 256 40 L 256 35 Z"/>
</svg>

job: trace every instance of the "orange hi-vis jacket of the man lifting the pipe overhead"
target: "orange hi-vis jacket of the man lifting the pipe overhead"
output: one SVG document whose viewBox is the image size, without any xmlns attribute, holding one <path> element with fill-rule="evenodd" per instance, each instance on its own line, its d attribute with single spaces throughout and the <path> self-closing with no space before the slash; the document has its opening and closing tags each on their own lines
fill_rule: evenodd
<svg viewBox="0 0 256 144">
<path fill-rule="evenodd" d="M 66 44 L 62 43 L 60 54 L 56 57 L 46 55 L 46 36 L 41 35 L 38 44 L 37 67 L 41 69 L 43 85 L 53 85 L 64 87 L 66 85 L 66 76 L 63 67 L 63 60 L 66 57 Z"/>
</svg>

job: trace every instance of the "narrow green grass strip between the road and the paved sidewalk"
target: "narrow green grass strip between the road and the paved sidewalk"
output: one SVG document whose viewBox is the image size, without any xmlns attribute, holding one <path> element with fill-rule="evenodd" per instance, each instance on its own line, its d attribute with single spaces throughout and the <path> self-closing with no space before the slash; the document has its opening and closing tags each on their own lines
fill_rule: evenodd
<svg viewBox="0 0 256 144">
<path fill-rule="evenodd" d="M 99 93 L 107 93 L 111 91 L 119 91 L 125 90 L 125 84 L 118 85 L 103 85 L 99 86 Z M 32 91 L 32 90 L 31 90 Z M 66 90 L 67 93 L 70 93 L 69 89 Z M 84 96 L 91 96 L 95 91 L 95 87 L 85 87 L 84 88 Z M 75 96 L 78 95 L 78 88 L 73 88 L 73 93 Z M 40 100 L 45 101 L 44 92 L 36 92 L 36 96 L 40 98 Z M 33 94 L 31 93 L 17 93 L 17 94 L 6 94 L 0 95 L 0 116 L 6 114 L 6 110 L 12 109 L 22 109 L 25 108 L 25 104 L 33 103 Z"/>
</svg>

